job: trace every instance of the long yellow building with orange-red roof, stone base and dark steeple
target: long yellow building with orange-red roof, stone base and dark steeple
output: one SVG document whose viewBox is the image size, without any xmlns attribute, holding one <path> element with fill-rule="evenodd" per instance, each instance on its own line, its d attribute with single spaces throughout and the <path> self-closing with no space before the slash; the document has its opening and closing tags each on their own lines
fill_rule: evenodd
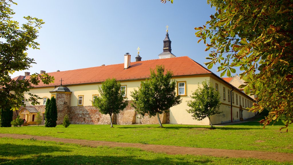
<svg viewBox="0 0 293 165">
<path fill-rule="evenodd" d="M 91 103 L 93 98 L 99 96 L 98 86 L 101 86 L 101 83 L 108 78 L 115 78 L 120 81 L 127 100 L 132 100 L 131 92 L 140 87 L 142 80 L 149 78 L 150 68 L 154 69 L 156 65 L 164 65 L 166 70 L 173 72 L 173 79 L 177 81 L 177 95 L 181 95 L 182 103 L 171 107 L 169 113 L 161 115 L 163 123 L 209 125 L 209 119 L 194 120 L 191 114 L 186 111 L 190 108 L 187 106 L 187 101 L 191 100 L 190 95 L 204 80 L 210 81 L 221 95 L 220 110 L 223 113 L 211 117 L 213 124 L 235 122 L 255 116 L 254 112 L 248 112 L 248 108 L 253 103 L 251 97 L 191 58 L 173 55 L 168 33 L 163 42 L 163 53 L 159 55 L 159 59 L 141 61 L 141 57 L 137 55 L 136 61 L 131 62 L 131 55 L 125 54 L 124 63 L 121 64 L 48 73 L 54 76 L 54 83 L 49 85 L 39 84 L 29 91 L 42 98 L 42 100 L 39 100 L 41 105 L 31 106 L 27 102 L 26 106 L 44 112 L 46 100 L 55 96 L 58 111 L 57 124 L 62 122 L 65 114 L 68 114 L 71 123 L 75 124 L 108 124 L 110 123 L 109 117 L 100 114 Z M 25 78 L 29 78 L 29 76 Z M 59 80 L 61 78 L 62 86 L 60 87 Z M 29 97 L 29 92 L 24 94 L 25 98 Z M 21 112 L 21 114 L 24 114 L 24 112 Z M 157 123 L 155 117 L 145 116 L 140 118 L 131 106 L 128 106 L 119 114 L 114 114 L 112 118 L 116 124 Z"/>
</svg>

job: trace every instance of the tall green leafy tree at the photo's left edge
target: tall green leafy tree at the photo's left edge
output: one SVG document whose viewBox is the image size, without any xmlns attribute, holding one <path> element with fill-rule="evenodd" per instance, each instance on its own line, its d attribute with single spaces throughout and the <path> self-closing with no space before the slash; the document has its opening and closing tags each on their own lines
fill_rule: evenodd
<svg viewBox="0 0 293 165">
<path fill-rule="evenodd" d="M 34 59 L 28 58 L 28 48 L 39 49 L 35 41 L 38 37 L 38 29 L 44 24 L 42 19 L 30 16 L 24 17 L 27 23 L 19 26 L 17 21 L 12 20 L 15 14 L 10 8 L 16 5 L 12 0 L 0 0 L 0 109 L 8 107 L 13 110 L 23 105 L 23 93 L 38 85 L 40 81 L 45 84 L 53 82 L 54 77 L 44 74 L 33 74 L 24 80 L 12 80 L 9 73 L 26 70 L 34 64 Z M 38 95 L 29 93 L 26 98 L 32 105 L 40 104 Z M 0 111 L 1 113 L 1 111 Z M 1 115 L 1 114 L 0 114 Z"/>
</svg>

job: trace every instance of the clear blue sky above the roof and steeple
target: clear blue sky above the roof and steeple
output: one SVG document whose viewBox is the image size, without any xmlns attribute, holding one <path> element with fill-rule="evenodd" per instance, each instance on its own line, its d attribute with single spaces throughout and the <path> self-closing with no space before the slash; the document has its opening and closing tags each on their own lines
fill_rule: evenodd
<svg viewBox="0 0 293 165">
<path fill-rule="evenodd" d="M 215 13 L 205 0 L 174 0 L 162 4 L 160 0 L 16 0 L 11 8 L 14 20 L 20 24 L 23 16 L 45 21 L 37 42 L 40 50 L 28 50 L 34 58 L 30 70 L 16 72 L 39 73 L 40 70 L 73 70 L 118 64 L 124 54 L 130 53 L 135 61 L 137 47 L 142 60 L 158 59 L 163 52 L 166 25 L 172 41 L 172 53 L 177 57 L 189 56 L 204 65 L 205 44 L 197 44 L 195 27 L 210 20 Z M 205 66 L 205 65 L 204 65 Z M 206 66 L 205 66 L 206 67 Z M 216 72 L 217 68 L 212 68 Z"/>
</svg>

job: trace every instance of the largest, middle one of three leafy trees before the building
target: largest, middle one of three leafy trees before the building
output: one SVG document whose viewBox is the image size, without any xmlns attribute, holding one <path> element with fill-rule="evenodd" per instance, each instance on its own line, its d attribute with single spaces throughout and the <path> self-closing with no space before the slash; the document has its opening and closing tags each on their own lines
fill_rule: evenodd
<svg viewBox="0 0 293 165">
<path fill-rule="evenodd" d="M 160 127 L 163 127 L 159 115 L 182 102 L 180 95 L 176 95 L 176 80 L 171 80 L 173 73 L 165 72 L 163 65 L 150 69 L 150 78 L 141 81 L 141 87 L 131 92 L 132 107 L 142 116 L 157 116 Z"/>
</svg>

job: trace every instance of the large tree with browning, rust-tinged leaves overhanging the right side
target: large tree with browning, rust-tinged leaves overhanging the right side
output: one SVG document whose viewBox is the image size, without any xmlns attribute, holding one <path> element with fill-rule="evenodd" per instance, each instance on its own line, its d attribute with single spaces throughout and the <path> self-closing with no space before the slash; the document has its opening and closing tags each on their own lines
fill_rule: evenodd
<svg viewBox="0 0 293 165">
<path fill-rule="evenodd" d="M 212 49 L 210 69 L 230 76 L 235 67 L 246 76 L 246 94 L 258 97 L 250 111 L 270 110 L 260 123 L 270 124 L 281 117 L 293 123 L 293 5 L 291 0 L 209 0 L 217 11 L 195 35 Z M 282 129 L 282 128 L 281 128 Z"/>
</svg>

